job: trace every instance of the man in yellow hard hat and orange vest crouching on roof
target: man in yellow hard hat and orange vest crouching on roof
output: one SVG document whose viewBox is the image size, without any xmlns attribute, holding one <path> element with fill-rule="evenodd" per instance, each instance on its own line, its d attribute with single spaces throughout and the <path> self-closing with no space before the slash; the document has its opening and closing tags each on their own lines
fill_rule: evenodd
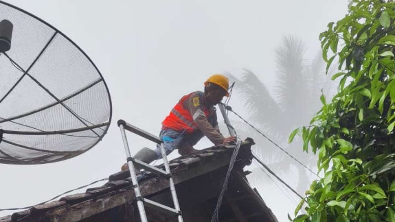
<svg viewBox="0 0 395 222">
<path fill-rule="evenodd" d="M 193 146 L 206 136 L 214 145 L 236 141 L 236 137 L 224 137 L 218 128 L 214 105 L 229 96 L 229 80 L 224 75 L 214 74 L 204 83 L 204 92 L 196 91 L 182 96 L 169 115 L 162 122 L 160 139 L 166 155 L 178 149 L 180 155 L 196 151 Z M 159 145 L 153 151 L 144 147 L 134 156 L 135 159 L 150 163 L 162 158 Z M 122 170 L 127 170 L 124 164 Z"/>
</svg>

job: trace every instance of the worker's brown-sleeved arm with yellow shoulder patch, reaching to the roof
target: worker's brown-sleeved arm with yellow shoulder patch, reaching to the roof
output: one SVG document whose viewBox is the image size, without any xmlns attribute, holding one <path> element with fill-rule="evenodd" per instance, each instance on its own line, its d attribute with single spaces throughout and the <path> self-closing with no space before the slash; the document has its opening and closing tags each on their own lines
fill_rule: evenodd
<svg viewBox="0 0 395 222">
<path fill-rule="evenodd" d="M 219 133 L 218 128 L 214 128 L 203 112 L 203 101 L 198 93 L 192 94 L 184 102 L 184 107 L 188 109 L 194 119 L 198 129 L 207 137 L 214 145 L 224 143 L 225 137 Z M 218 126 L 217 126 L 218 127 Z"/>
</svg>

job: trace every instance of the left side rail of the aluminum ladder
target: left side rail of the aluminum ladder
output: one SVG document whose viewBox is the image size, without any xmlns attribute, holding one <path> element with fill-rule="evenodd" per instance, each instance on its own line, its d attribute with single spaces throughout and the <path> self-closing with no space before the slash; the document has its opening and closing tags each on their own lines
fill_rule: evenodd
<svg viewBox="0 0 395 222">
<path fill-rule="evenodd" d="M 137 176 L 135 174 L 134 164 L 131 159 L 132 156 L 130 155 L 129 144 L 128 144 L 128 140 L 126 139 L 124 125 L 120 124 L 119 128 L 121 130 L 122 140 L 124 142 L 126 158 L 128 160 L 128 166 L 129 166 L 129 171 L 130 171 L 130 177 L 132 178 L 132 183 L 134 185 L 134 193 L 135 193 L 135 196 L 137 199 L 137 207 L 139 209 L 140 219 L 141 219 L 141 222 L 148 222 L 147 214 L 145 214 L 144 203 L 143 203 L 143 201 L 141 201 L 141 193 L 140 193 L 140 189 L 139 189 L 139 184 L 137 181 Z"/>
</svg>

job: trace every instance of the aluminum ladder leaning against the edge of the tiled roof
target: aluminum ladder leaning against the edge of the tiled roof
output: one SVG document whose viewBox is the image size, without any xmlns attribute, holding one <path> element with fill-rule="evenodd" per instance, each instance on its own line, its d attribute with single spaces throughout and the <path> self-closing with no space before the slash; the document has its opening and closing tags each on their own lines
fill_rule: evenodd
<svg viewBox="0 0 395 222">
<path fill-rule="evenodd" d="M 148 222 L 147 214 L 145 214 L 144 207 L 149 207 L 151 209 L 161 211 L 163 213 L 169 214 L 170 216 L 177 216 L 178 222 L 183 222 L 180 205 L 177 199 L 177 193 L 175 191 L 174 180 L 173 177 L 171 176 L 169 162 L 167 162 L 166 152 L 163 147 L 163 141 L 159 137 L 152 135 L 148 132 L 145 132 L 144 130 L 141 130 L 131 124 L 128 124 L 122 119 L 118 120 L 118 126 L 120 128 L 122 140 L 125 147 L 126 161 L 128 162 L 130 177 L 132 178 L 132 182 L 134 186 L 134 194 L 137 200 L 137 207 L 139 209 L 141 222 Z M 128 140 L 126 139 L 125 130 L 128 130 L 134 134 L 144 137 L 145 139 L 149 139 L 150 141 L 159 144 L 166 171 L 159 169 L 158 167 L 154 167 L 149 164 L 146 164 L 145 162 L 142 162 L 140 160 L 136 160 L 135 158 L 132 158 L 132 156 L 130 155 Z M 174 208 L 167 207 L 166 205 L 157 203 L 147 198 L 143 198 L 141 196 L 134 164 L 141 167 L 142 169 L 145 169 L 146 171 L 150 171 L 151 173 L 154 173 L 156 175 L 165 176 L 167 179 L 169 179 L 170 192 L 171 192 L 171 197 L 173 198 Z"/>
</svg>

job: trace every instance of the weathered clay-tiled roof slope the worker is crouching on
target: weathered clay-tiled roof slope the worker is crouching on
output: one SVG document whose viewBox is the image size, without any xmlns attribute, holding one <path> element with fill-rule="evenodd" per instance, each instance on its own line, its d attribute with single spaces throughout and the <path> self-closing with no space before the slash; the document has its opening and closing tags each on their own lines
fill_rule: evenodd
<svg viewBox="0 0 395 222">
<path fill-rule="evenodd" d="M 241 165 L 241 169 L 251 163 L 250 147 L 253 144 L 252 139 L 246 139 L 241 145 L 237 162 Z M 234 145 L 214 146 L 169 161 L 175 184 L 228 165 L 234 147 Z M 158 167 L 164 169 L 163 164 Z M 141 194 L 149 196 L 168 188 L 168 181 L 152 173 L 146 173 L 146 176 L 139 181 L 139 185 Z M 109 181 L 103 186 L 89 188 L 85 193 L 65 196 L 58 201 L 36 205 L 28 210 L 13 213 L 11 216 L 0 218 L 0 222 L 34 222 L 42 221 L 44 218 L 56 218 L 58 222 L 78 221 L 133 201 L 132 188 L 129 172 L 120 171 L 110 175 Z M 261 201 L 263 202 L 263 200 Z M 85 210 L 82 211 L 82 209 Z"/>
</svg>

